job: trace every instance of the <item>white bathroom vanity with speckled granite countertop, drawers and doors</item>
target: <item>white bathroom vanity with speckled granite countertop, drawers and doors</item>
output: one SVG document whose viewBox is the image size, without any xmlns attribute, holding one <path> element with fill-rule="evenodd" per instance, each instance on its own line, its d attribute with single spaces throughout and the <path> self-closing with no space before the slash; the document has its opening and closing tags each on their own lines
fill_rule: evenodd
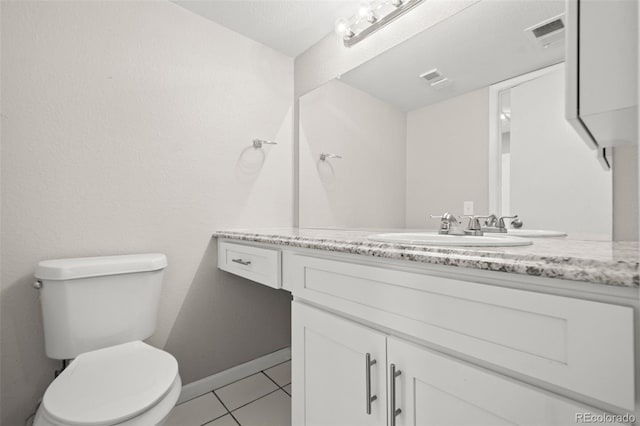
<svg viewBox="0 0 640 426">
<path fill-rule="evenodd" d="M 293 294 L 294 425 L 640 414 L 637 243 L 439 248 L 369 234 L 214 234 L 220 269 Z"/>
</svg>

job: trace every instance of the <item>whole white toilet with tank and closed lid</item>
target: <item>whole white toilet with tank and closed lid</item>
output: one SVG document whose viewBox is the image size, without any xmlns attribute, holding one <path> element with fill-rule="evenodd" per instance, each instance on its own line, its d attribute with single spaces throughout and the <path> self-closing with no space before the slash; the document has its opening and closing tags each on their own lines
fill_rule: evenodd
<svg viewBox="0 0 640 426">
<path fill-rule="evenodd" d="M 163 254 L 46 260 L 36 287 L 49 358 L 73 359 L 49 385 L 34 426 L 160 425 L 182 382 L 153 334 Z"/>
</svg>

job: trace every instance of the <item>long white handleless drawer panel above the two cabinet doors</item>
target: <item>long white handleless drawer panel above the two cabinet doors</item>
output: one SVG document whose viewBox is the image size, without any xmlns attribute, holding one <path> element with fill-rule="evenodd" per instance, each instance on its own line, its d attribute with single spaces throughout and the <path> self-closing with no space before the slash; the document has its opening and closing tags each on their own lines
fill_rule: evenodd
<svg viewBox="0 0 640 426">
<path fill-rule="evenodd" d="M 633 309 L 291 255 L 296 297 L 633 410 Z"/>
</svg>

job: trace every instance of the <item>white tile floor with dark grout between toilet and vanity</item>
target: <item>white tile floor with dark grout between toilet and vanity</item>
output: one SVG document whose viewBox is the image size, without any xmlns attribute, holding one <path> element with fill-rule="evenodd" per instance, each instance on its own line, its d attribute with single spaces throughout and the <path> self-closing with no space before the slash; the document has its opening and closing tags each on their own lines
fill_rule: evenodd
<svg viewBox="0 0 640 426">
<path fill-rule="evenodd" d="M 165 426 L 290 426 L 291 361 L 177 405 Z"/>
</svg>

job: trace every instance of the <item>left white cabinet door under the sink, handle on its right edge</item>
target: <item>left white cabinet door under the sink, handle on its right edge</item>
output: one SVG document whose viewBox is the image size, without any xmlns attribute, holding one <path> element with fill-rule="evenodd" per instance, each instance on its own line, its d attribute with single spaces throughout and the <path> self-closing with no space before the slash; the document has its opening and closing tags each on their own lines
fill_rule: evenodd
<svg viewBox="0 0 640 426">
<path fill-rule="evenodd" d="M 386 424 L 383 334 L 294 301 L 291 350 L 294 426 Z"/>
</svg>

